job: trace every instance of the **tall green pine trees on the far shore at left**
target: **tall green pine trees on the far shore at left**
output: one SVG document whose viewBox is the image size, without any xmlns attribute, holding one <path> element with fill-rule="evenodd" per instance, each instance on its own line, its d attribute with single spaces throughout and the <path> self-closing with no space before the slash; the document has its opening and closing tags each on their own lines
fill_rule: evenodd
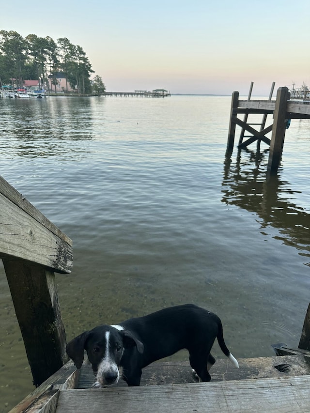
<svg viewBox="0 0 310 413">
<path fill-rule="evenodd" d="M 59 72 L 66 79 L 66 92 L 68 85 L 78 93 L 105 92 L 100 76 L 91 81 L 94 71 L 82 47 L 73 45 L 66 37 L 55 42 L 49 36 L 28 34 L 23 38 L 16 31 L 0 30 L 1 86 L 14 83 L 23 87 L 24 80 L 38 80 L 42 88 L 54 85 L 56 92 Z"/>
</svg>

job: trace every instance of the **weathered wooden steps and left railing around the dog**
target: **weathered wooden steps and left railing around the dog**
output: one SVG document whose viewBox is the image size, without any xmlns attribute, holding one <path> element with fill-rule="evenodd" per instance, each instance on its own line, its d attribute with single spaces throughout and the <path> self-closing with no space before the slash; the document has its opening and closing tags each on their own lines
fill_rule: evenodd
<svg viewBox="0 0 310 413">
<path fill-rule="evenodd" d="M 239 359 L 239 369 L 217 360 L 209 383 L 188 362 L 159 361 L 139 387 L 92 389 L 88 362 L 77 370 L 66 356 L 54 275 L 70 272 L 72 241 L 1 177 L 0 202 L 0 258 L 37 386 L 11 413 L 310 411 L 310 306 L 299 347 L 275 346 L 283 355 Z"/>
</svg>

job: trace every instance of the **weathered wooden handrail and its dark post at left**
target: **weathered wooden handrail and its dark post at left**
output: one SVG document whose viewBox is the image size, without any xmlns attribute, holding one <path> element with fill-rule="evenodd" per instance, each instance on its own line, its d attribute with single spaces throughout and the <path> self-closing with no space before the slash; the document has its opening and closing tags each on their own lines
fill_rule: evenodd
<svg viewBox="0 0 310 413">
<path fill-rule="evenodd" d="M 67 361 L 54 273 L 70 273 L 72 241 L 1 177 L 0 258 L 38 386 Z"/>
</svg>

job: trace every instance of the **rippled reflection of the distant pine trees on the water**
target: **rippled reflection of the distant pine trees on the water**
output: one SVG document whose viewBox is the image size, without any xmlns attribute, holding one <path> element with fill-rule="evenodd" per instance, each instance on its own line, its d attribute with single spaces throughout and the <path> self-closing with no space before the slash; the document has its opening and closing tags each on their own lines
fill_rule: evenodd
<svg viewBox="0 0 310 413">
<path fill-rule="evenodd" d="M 0 138 L 8 156 L 71 158 L 73 151 L 85 153 L 80 141 L 93 138 L 89 99 L 72 98 L 70 105 L 65 99 L 52 97 L 8 99 L 5 103 L 1 107 Z"/>
</svg>

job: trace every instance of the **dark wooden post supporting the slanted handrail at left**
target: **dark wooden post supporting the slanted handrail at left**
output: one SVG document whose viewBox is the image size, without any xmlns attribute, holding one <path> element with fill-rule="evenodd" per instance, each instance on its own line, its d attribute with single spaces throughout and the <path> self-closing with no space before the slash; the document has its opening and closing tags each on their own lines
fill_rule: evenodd
<svg viewBox="0 0 310 413">
<path fill-rule="evenodd" d="M 3 259 L 35 386 L 68 361 L 54 273 Z"/>
</svg>

